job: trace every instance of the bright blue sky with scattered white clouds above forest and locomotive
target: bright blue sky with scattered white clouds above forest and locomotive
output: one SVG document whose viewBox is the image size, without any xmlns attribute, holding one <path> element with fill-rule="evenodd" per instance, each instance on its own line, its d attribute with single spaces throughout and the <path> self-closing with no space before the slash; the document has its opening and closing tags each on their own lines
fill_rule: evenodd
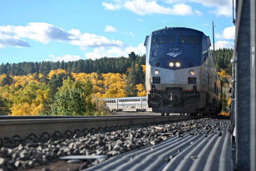
<svg viewBox="0 0 256 171">
<path fill-rule="evenodd" d="M 0 0 L 0 62 L 74 61 L 143 55 L 164 27 L 203 31 L 234 48 L 231 0 Z"/>
</svg>

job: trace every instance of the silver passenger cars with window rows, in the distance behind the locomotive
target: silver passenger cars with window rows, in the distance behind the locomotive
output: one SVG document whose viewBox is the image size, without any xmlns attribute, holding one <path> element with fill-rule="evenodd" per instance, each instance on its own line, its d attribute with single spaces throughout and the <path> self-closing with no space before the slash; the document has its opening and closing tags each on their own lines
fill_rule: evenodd
<svg viewBox="0 0 256 171">
<path fill-rule="evenodd" d="M 124 112 L 147 112 L 152 111 L 148 108 L 147 97 L 121 97 L 121 98 L 103 98 L 106 106 L 110 111 L 124 111 Z"/>
</svg>

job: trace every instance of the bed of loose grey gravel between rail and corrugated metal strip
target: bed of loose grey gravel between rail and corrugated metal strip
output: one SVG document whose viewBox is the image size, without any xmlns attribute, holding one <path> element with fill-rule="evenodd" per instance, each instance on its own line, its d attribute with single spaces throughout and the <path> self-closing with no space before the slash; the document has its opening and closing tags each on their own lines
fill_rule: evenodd
<svg viewBox="0 0 256 171">
<path fill-rule="evenodd" d="M 182 137 L 184 133 L 197 129 L 205 129 L 207 133 L 218 134 L 220 125 L 211 125 L 220 119 L 202 118 L 186 121 L 170 121 L 165 124 L 137 124 L 114 128 L 93 129 L 90 132 L 76 131 L 75 133 L 55 133 L 30 139 L 0 140 L 0 170 L 25 170 L 29 168 L 44 168 L 54 170 L 51 162 L 63 162 L 76 165 L 74 170 L 84 169 L 117 154 L 140 149 L 143 146 L 156 145 L 168 137 Z M 198 134 L 200 134 L 198 132 Z M 65 156 L 78 156 L 75 159 L 60 160 Z M 79 156 L 87 156 L 81 158 Z M 97 157 L 101 156 L 101 157 Z M 41 167 L 48 164 L 47 168 Z M 72 170 L 72 169 L 69 169 Z"/>
</svg>

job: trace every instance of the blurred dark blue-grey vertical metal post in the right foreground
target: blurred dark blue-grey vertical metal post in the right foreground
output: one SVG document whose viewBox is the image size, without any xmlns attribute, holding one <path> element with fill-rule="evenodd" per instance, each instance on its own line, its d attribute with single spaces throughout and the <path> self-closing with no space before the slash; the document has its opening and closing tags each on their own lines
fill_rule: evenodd
<svg viewBox="0 0 256 171">
<path fill-rule="evenodd" d="M 250 170 L 251 162 L 255 162 L 250 160 L 250 0 L 236 2 L 236 167 Z"/>
</svg>

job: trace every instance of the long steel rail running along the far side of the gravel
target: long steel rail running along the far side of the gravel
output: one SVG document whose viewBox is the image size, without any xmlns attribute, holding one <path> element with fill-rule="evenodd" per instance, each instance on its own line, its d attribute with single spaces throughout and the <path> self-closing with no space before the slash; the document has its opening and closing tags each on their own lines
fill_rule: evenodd
<svg viewBox="0 0 256 171">
<path fill-rule="evenodd" d="M 0 138 L 27 137 L 29 134 L 41 136 L 43 133 L 65 133 L 66 131 L 95 131 L 115 126 L 156 123 L 169 120 L 195 119 L 201 116 L 13 116 L 0 117 Z"/>
</svg>

